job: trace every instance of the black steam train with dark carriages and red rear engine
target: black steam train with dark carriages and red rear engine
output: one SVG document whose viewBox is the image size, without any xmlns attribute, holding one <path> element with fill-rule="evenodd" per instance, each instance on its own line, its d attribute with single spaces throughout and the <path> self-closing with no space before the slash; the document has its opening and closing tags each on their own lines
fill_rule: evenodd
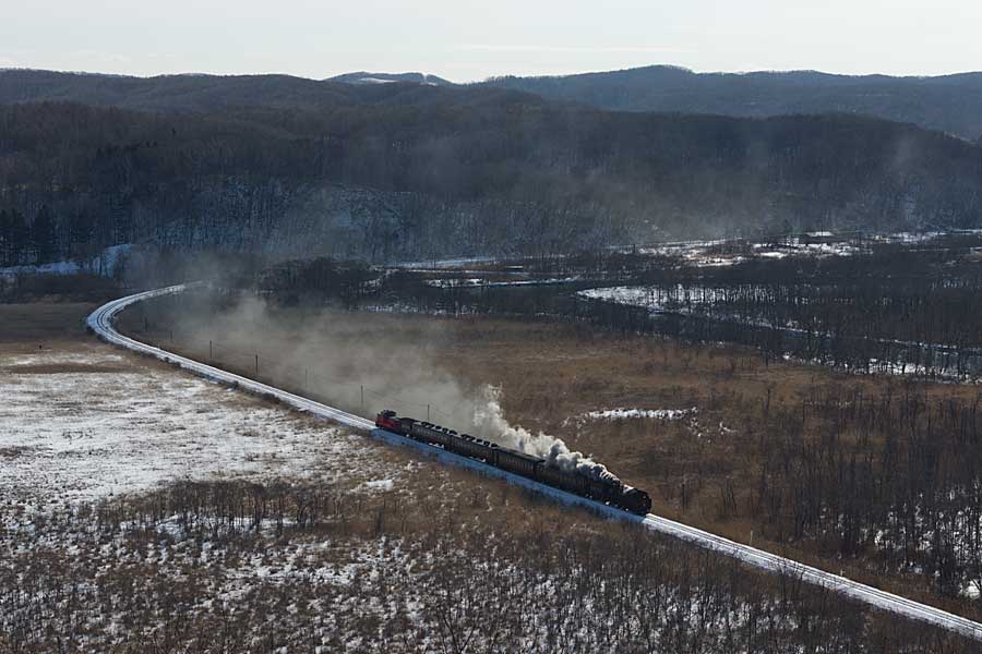
<svg viewBox="0 0 982 654">
<path fill-rule="evenodd" d="M 379 413 L 375 416 L 375 426 L 638 516 L 646 516 L 651 510 L 651 498 L 647 493 L 627 486 L 616 479 L 598 479 L 576 470 L 562 470 L 548 465 L 546 460 L 539 457 L 501 447 L 469 434 L 457 434 L 453 429 L 429 422 L 402 417 L 396 415 L 395 411 Z"/>
</svg>

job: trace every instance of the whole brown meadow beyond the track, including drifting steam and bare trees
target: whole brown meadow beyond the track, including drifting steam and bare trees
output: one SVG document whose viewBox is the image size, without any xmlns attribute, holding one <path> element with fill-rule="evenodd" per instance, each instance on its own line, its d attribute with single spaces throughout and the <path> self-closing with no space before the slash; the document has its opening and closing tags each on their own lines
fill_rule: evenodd
<svg viewBox="0 0 982 654">
<path fill-rule="evenodd" d="M 980 615 L 978 502 L 934 501 L 927 485 L 974 474 L 974 385 L 550 320 L 247 300 L 136 308 L 123 325 L 247 376 L 259 362 L 261 378 L 367 416 L 391 408 L 468 431 L 490 407 L 649 491 L 658 514 Z"/>
</svg>

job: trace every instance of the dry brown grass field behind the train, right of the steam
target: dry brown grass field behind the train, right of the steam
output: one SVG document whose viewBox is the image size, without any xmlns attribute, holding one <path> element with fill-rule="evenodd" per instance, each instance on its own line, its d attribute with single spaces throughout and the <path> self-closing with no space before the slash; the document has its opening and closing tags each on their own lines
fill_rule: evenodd
<svg viewBox="0 0 982 654">
<path fill-rule="evenodd" d="M 934 596 L 925 590 L 923 578 L 881 577 L 871 572 L 863 560 L 842 564 L 823 559 L 818 543 L 769 540 L 759 518 L 744 508 L 744 500 L 753 491 L 750 486 L 758 477 L 761 462 L 753 452 L 759 449 L 754 446 L 765 413 L 828 393 L 841 396 L 846 390 L 875 397 L 888 386 L 900 384 L 896 378 L 850 375 L 786 362 L 766 364 L 756 352 L 729 346 L 612 337 L 554 323 L 342 314 L 332 315 L 331 319 L 348 322 L 350 329 L 343 330 L 348 336 L 338 340 L 338 332 L 334 331 L 319 341 L 310 339 L 315 312 L 283 310 L 271 319 L 275 328 L 258 323 L 251 334 L 238 335 L 230 344 L 259 351 L 261 358 L 265 353 L 270 360 L 277 356 L 277 342 L 299 342 L 299 335 L 303 334 L 302 353 L 289 356 L 299 356 L 315 366 L 338 348 L 355 347 L 373 338 L 399 340 L 405 347 L 428 352 L 440 368 L 468 384 L 501 387 L 503 408 L 513 424 L 560 436 L 571 447 L 592 453 L 626 482 L 648 489 L 659 514 L 962 614 L 978 613 L 967 603 Z M 202 356 L 200 335 L 194 343 L 183 342 L 180 334 L 175 338 L 172 347 L 183 346 Z M 229 366 L 252 375 L 248 364 L 230 362 Z M 275 376 L 268 380 L 291 385 Z M 926 393 L 933 397 L 972 399 L 977 392 L 970 386 L 926 386 Z M 328 390 L 319 399 L 333 398 Z M 697 408 L 694 421 L 570 421 L 595 410 L 692 407 Z M 455 492 L 466 495 L 466 482 L 462 483 Z M 730 488 L 740 510 L 722 514 L 720 496 Z M 431 489 L 422 491 L 426 494 Z M 548 502 L 538 502 L 536 509 L 564 510 Z"/>
</svg>

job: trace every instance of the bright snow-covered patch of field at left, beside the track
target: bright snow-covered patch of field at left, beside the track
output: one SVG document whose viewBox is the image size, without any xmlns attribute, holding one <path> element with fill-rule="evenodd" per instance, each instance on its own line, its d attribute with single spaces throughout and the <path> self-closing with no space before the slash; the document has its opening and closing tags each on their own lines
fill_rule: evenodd
<svg viewBox="0 0 982 654">
<path fill-rule="evenodd" d="M 397 474 L 363 436 L 108 347 L 0 354 L 0 495 L 29 504 L 189 477 Z"/>
</svg>

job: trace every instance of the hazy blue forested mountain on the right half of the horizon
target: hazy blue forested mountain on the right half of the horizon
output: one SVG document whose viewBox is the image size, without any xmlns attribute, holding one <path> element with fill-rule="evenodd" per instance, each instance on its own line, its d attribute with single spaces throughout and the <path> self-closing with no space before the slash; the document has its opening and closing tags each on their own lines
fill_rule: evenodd
<svg viewBox="0 0 982 654">
<path fill-rule="evenodd" d="M 484 83 L 614 111 L 736 117 L 858 113 L 982 138 L 982 73 L 937 77 L 830 75 L 815 71 L 694 73 L 667 65 Z"/>
</svg>

